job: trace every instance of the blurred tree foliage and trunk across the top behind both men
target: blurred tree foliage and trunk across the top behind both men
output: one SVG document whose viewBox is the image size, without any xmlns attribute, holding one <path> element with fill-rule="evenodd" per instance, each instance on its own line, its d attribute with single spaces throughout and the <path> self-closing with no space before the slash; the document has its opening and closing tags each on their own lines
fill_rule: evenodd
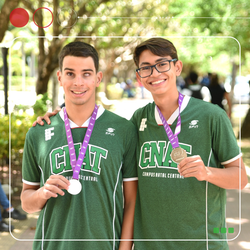
<svg viewBox="0 0 250 250">
<path fill-rule="evenodd" d="M 203 0 L 5 0 L 7 2 L 8 6 L 19 2 L 18 7 L 28 10 L 30 23 L 38 8 L 49 8 L 54 15 L 53 24 L 48 28 L 25 27 L 31 36 L 39 36 L 37 94 L 47 92 L 48 81 L 58 65 L 57 55 L 69 41 L 83 40 L 98 49 L 106 85 L 117 65 L 116 59 L 128 58 L 139 37 L 171 37 L 185 64 L 190 64 L 187 68 L 197 66 L 202 67 L 202 71 L 214 67 L 210 58 L 227 55 L 225 60 L 230 60 L 240 47 L 245 59 L 244 55 L 250 50 L 247 18 L 250 2 L 247 0 L 221 0 L 213 4 Z M 50 13 L 44 10 L 34 15 L 38 26 L 45 26 L 50 18 Z M 9 29 L 12 28 L 9 25 Z M 27 43 L 27 35 L 23 37 Z M 225 71 L 225 67 L 222 69 Z"/>
</svg>

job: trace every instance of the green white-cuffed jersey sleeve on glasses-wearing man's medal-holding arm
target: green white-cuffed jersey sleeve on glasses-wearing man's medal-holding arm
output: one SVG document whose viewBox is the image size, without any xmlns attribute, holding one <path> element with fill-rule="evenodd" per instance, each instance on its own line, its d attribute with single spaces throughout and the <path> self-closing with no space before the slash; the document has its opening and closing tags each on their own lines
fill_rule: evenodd
<svg viewBox="0 0 250 250">
<path fill-rule="evenodd" d="M 224 165 L 240 158 L 242 154 L 226 112 L 221 110 L 213 123 L 213 151 L 221 164 Z"/>
</svg>

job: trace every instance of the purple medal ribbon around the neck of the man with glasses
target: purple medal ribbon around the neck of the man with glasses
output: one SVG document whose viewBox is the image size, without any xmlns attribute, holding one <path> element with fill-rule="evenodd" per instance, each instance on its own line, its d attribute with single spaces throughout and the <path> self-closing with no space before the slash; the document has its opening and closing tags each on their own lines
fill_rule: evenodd
<svg viewBox="0 0 250 250">
<path fill-rule="evenodd" d="M 179 148 L 180 147 L 177 135 L 181 132 L 181 105 L 182 105 L 182 102 L 183 102 L 183 98 L 184 98 L 183 94 L 179 93 L 179 98 L 178 98 L 179 115 L 178 115 L 178 120 L 177 120 L 177 124 L 176 124 L 176 128 L 175 128 L 175 134 L 172 132 L 170 126 L 168 125 L 165 117 L 161 113 L 158 106 L 156 106 L 157 110 L 158 110 L 158 113 L 159 113 L 159 116 L 161 118 L 163 127 L 164 127 L 164 129 L 166 131 L 168 139 L 169 139 L 169 141 L 170 141 L 173 148 Z"/>
</svg>

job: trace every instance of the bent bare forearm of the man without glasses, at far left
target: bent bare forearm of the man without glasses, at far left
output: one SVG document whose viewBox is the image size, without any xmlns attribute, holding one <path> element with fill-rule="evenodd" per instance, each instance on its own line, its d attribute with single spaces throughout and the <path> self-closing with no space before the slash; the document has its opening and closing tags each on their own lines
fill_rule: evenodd
<svg viewBox="0 0 250 250">
<path fill-rule="evenodd" d="M 42 187 L 43 188 L 43 187 Z M 21 202 L 22 208 L 27 213 L 34 213 L 41 211 L 45 206 L 47 199 L 41 198 L 42 188 L 39 189 L 26 189 L 22 191 Z"/>
</svg>

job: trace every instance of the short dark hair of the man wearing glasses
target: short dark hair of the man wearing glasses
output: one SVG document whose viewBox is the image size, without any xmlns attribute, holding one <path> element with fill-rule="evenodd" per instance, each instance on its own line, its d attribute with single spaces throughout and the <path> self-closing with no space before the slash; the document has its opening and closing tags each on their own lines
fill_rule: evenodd
<svg viewBox="0 0 250 250">
<path fill-rule="evenodd" d="M 150 50 L 157 56 L 171 56 L 172 59 L 178 60 L 177 50 L 172 42 L 161 37 L 150 38 L 137 45 L 134 50 L 133 58 L 137 67 L 139 67 L 139 57 L 144 50 Z"/>
</svg>

